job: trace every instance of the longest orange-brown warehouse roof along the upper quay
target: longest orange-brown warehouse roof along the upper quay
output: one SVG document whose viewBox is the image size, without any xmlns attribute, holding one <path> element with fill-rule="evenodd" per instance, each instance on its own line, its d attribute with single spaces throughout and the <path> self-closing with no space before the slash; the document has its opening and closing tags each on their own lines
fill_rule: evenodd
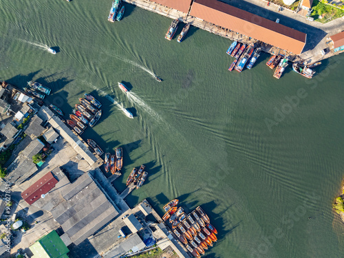
<svg viewBox="0 0 344 258">
<path fill-rule="evenodd" d="M 190 15 L 294 54 L 305 46 L 307 34 L 220 1 L 195 0 Z"/>
</svg>

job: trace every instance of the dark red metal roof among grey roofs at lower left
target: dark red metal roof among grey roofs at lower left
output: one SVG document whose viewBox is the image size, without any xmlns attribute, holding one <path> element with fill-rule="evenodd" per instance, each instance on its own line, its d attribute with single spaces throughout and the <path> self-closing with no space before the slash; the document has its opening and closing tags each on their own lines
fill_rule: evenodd
<svg viewBox="0 0 344 258">
<path fill-rule="evenodd" d="M 49 192 L 53 189 L 58 181 L 54 178 L 52 172 L 46 173 L 43 178 L 34 182 L 32 186 L 21 193 L 21 197 L 28 202 L 28 204 L 33 204 L 36 200 L 41 198 L 41 195 Z"/>
</svg>

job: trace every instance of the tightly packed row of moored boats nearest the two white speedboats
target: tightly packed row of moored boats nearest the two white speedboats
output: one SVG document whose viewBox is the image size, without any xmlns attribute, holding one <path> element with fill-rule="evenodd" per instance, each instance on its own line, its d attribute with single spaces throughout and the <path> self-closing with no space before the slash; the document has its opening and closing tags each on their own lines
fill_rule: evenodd
<svg viewBox="0 0 344 258">
<path fill-rule="evenodd" d="M 80 135 L 87 126 L 94 127 L 96 125 L 102 116 L 102 110 L 100 109 L 102 105 L 90 94 L 85 94 L 85 98 L 79 98 L 79 102 L 80 104 L 75 105 L 73 114 L 69 115 L 70 119 L 67 120 L 67 125 Z"/>
</svg>

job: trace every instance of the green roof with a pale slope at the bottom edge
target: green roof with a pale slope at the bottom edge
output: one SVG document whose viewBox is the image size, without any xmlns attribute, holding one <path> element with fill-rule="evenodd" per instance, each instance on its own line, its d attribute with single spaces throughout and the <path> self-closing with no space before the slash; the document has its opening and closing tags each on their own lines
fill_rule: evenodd
<svg viewBox="0 0 344 258">
<path fill-rule="evenodd" d="M 55 230 L 38 239 L 30 246 L 30 250 L 34 254 L 34 258 L 68 258 L 67 252 L 69 252 Z"/>
</svg>

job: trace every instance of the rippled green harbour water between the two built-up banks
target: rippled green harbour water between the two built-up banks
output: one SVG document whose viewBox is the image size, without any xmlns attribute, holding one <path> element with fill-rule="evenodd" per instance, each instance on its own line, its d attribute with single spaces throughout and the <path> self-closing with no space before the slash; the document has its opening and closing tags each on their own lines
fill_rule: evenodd
<svg viewBox="0 0 344 258">
<path fill-rule="evenodd" d="M 175 197 L 186 211 L 202 205 L 219 231 L 206 257 L 343 257 L 344 225 L 331 209 L 344 169 L 343 57 L 325 61 L 312 80 L 290 66 L 273 78 L 266 54 L 251 70 L 228 72 L 227 39 L 191 28 L 182 43 L 166 41 L 171 19 L 125 5 L 122 21 L 109 23 L 110 8 L 103 0 L 1 1 L 1 79 L 19 87 L 38 80 L 65 114 L 84 93 L 96 96 L 103 116 L 83 138 L 124 148 L 118 191 L 133 166 L 146 164 L 131 206 L 148 198 L 162 215 Z"/>
</svg>

